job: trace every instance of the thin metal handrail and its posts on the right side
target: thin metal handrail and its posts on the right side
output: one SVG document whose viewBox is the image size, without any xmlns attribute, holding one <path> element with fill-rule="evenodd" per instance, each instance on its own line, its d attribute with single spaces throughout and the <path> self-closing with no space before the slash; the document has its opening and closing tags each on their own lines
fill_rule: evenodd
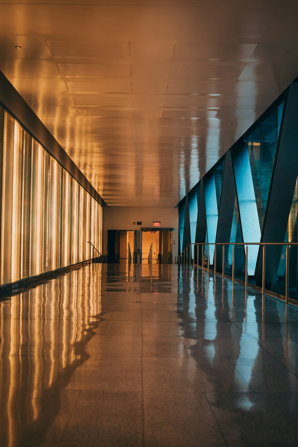
<svg viewBox="0 0 298 447">
<path fill-rule="evenodd" d="M 178 264 L 182 264 L 185 266 L 185 254 L 186 254 L 186 265 L 189 260 L 189 267 L 191 266 L 191 246 L 193 245 L 193 251 L 195 249 L 195 245 L 197 245 L 197 267 L 199 267 L 199 245 L 202 246 L 202 259 L 201 259 L 201 268 L 204 270 L 204 265 L 207 263 L 207 271 L 210 270 L 210 265 L 214 266 L 214 274 L 216 274 L 216 247 L 218 245 L 222 246 L 222 278 L 224 278 L 224 253 L 225 253 L 225 245 L 233 246 L 233 255 L 232 255 L 232 283 L 235 281 L 235 245 L 243 245 L 245 246 L 245 287 L 248 287 L 248 245 L 259 245 L 262 246 L 262 294 L 265 293 L 265 262 L 266 262 L 266 246 L 267 245 L 285 245 L 285 303 L 289 302 L 289 246 L 298 245 L 298 242 L 191 242 L 189 245 L 185 247 L 185 249 L 178 256 Z M 207 260 L 205 258 L 205 250 L 204 247 L 207 245 Z M 210 264 L 210 256 L 209 256 L 209 245 L 214 245 L 214 260 L 213 264 Z M 194 256 L 193 256 L 193 267 L 194 267 Z M 252 284 L 250 284 L 252 287 Z M 270 291 L 268 291 L 270 293 Z"/>
</svg>

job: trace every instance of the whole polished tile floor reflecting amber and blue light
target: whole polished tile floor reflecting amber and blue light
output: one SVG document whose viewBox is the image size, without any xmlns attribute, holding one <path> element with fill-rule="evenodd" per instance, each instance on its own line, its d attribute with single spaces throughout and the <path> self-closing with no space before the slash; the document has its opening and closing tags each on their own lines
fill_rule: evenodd
<svg viewBox="0 0 298 447">
<path fill-rule="evenodd" d="M 298 310 L 94 264 L 0 301 L 0 445 L 297 446 Z"/>
</svg>

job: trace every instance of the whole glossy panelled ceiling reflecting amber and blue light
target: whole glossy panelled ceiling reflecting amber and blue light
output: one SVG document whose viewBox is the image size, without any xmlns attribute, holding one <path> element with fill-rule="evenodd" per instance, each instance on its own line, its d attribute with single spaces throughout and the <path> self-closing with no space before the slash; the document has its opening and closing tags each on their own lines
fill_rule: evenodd
<svg viewBox="0 0 298 447">
<path fill-rule="evenodd" d="M 298 76 L 297 17 L 292 0 L 0 0 L 0 70 L 109 206 L 174 207 Z"/>
</svg>

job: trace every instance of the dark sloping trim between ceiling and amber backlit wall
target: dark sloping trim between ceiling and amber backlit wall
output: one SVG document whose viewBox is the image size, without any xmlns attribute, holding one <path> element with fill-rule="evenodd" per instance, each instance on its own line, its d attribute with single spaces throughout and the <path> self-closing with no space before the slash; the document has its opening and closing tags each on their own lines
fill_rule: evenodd
<svg viewBox="0 0 298 447">
<path fill-rule="evenodd" d="M 107 207 L 107 204 L 98 194 L 97 190 L 95 190 L 77 165 L 71 160 L 70 156 L 64 151 L 62 146 L 60 146 L 58 141 L 1 71 L 0 103 L 70 173 L 71 177 L 78 181 L 101 206 Z"/>
</svg>

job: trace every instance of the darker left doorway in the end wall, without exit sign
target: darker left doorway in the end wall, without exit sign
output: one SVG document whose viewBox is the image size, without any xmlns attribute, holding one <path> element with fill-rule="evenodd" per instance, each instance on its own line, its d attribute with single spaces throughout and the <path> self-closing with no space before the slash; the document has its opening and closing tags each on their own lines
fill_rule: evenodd
<svg viewBox="0 0 298 447">
<path fill-rule="evenodd" d="M 136 256 L 136 230 L 107 230 L 107 262 L 134 263 Z"/>
</svg>

